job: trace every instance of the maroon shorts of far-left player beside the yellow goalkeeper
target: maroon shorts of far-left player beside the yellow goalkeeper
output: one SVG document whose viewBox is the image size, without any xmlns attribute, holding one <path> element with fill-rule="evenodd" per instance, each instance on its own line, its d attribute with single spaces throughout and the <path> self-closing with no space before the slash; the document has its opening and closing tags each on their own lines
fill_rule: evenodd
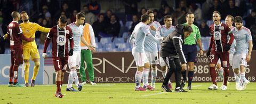
<svg viewBox="0 0 256 104">
<path fill-rule="evenodd" d="M 14 65 L 22 65 L 23 64 L 22 54 L 23 54 L 22 48 L 11 50 L 11 62 Z"/>
</svg>

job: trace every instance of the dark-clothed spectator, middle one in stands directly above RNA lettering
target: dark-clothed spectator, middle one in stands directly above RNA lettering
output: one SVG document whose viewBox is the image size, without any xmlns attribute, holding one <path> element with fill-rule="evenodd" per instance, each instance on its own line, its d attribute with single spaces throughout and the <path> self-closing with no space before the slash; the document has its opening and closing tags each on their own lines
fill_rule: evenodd
<svg viewBox="0 0 256 104">
<path fill-rule="evenodd" d="M 117 21 L 116 15 L 112 14 L 110 18 L 110 22 L 107 23 L 106 33 L 111 37 L 117 37 L 120 31 L 121 25 L 119 21 Z"/>
</svg>

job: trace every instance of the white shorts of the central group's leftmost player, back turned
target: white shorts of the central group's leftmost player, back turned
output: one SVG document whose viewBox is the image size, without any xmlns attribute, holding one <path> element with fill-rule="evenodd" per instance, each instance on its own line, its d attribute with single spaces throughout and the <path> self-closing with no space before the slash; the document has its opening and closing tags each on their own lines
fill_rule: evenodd
<svg viewBox="0 0 256 104">
<path fill-rule="evenodd" d="M 137 67 L 143 67 L 148 62 L 148 58 L 144 52 L 133 52 L 132 55 L 135 59 Z"/>
</svg>

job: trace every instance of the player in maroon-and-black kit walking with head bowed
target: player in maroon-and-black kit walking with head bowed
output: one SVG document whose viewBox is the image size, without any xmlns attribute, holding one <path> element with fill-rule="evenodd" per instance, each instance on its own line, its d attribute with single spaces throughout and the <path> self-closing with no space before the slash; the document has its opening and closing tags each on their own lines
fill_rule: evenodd
<svg viewBox="0 0 256 104">
<path fill-rule="evenodd" d="M 58 25 L 51 28 L 44 42 L 43 57 L 46 59 L 46 50 L 52 39 L 52 61 L 55 69 L 57 91 L 55 97 L 62 98 L 61 78 L 64 76 L 68 64 L 68 56 L 73 55 L 74 40 L 71 28 L 67 25 L 67 18 L 61 16 Z M 68 52 L 68 42 L 70 50 Z"/>
</svg>

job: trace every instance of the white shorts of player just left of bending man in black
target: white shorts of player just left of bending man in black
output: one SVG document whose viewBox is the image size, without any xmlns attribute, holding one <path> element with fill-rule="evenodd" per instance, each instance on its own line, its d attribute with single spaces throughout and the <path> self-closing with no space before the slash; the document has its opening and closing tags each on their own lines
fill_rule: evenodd
<svg viewBox="0 0 256 104">
<path fill-rule="evenodd" d="M 157 52 L 145 52 L 148 61 L 150 62 L 150 65 L 158 65 L 158 54 Z"/>
</svg>

